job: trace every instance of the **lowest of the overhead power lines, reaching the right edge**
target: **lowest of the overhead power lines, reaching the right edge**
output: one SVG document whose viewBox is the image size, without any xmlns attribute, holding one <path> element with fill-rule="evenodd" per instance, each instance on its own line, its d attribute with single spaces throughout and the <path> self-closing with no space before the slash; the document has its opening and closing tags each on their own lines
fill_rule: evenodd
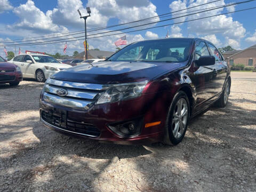
<svg viewBox="0 0 256 192">
<path fill-rule="evenodd" d="M 226 12 L 226 13 L 211 15 L 211 16 L 203 17 L 203 18 L 191 19 L 191 20 L 182 21 L 182 22 L 170 23 L 170 24 L 162 25 L 162 26 L 156 26 L 156 27 L 149 27 L 149 28 L 145 28 L 145 29 L 138 29 L 138 30 L 126 31 L 126 32 L 124 32 L 124 33 L 110 34 L 110 35 L 104 35 L 104 36 L 98 36 L 98 37 L 90 37 L 90 38 L 87 38 L 87 39 L 100 38 L 100 37 L 107 37 L 107 36 L 113 36 L 113 35 L 120 35 L 120 34 L 132 33 L 132 32 L 135 32 L 135 31 L 141 31 L 141 30 L 159 28 L 159 27 L 166 27 L 166 26 L 170 26 L 170 25 L 176 25 L 176 24 L 180 24 L 180 23 L 185 23 L 185 22 L 190 22 L 190 21 L 196 21 L 196 20 L 200 20 L 200 19 L 206 19 L 206 18 L 216 17 L 216 16 L 219 16 L 219 15 L 224 15 L 224 14 L 229 14 L 229 13 L 235 13 L 235 12 L 241 12 L 241 11 L 247 11 L 247 10 L 252 10 L 252 9 L 256 9 L 256 7 L 251 7 L 251 8 L 243 9 L 243 10 L 237 10 L 237 11 L 231 11 L 231 12 Z M 74 40 L 62 41 L 62 42 L 54 42 L 54 43 L 73 42 L 73 41 L 79 41 L 79 40 L 84 40 L 84 39 L 74 39 Z M 33 45 L 45 45 L 45 44 L 53 44 L 53 43 L 35 43 L 35 44 L 33 44 Z M 18 45 L 19 45 L 19 44 L 18 44 Z M 4 46 L 4 45 L 1 45 L 1 46 Z M 5 46 L 14 46 L 14 45 L 5 45 Z M 27 46 L 27 45 L 20 45 L 20 46 Z"/>
</svg>

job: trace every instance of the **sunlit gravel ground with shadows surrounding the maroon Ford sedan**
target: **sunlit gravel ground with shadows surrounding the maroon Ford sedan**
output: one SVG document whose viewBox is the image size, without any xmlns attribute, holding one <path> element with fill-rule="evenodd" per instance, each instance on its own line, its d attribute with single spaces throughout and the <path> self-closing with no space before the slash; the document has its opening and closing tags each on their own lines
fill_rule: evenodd
<svg viewBox="0 0 256 192">
<path fill-rule="evenodd" d="M 256 73 L 231 76 L 227 107 L 174 147 L 67 137 L 39 122 L 43 84 L 1 85 L 0 191 L 256 191 Z"/>
</svg>

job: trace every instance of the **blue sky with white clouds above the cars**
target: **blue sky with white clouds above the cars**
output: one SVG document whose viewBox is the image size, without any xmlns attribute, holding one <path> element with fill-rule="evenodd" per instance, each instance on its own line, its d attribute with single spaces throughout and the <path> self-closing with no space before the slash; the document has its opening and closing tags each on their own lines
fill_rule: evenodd
<svg viewBox="0 0 256 192">
<path fill-rule="evenodd" d="M 52 35 L 60 33 L 69 33 L 84 29 L 83 20 L 79 19 L 77 9 L 81 10 L 82 14 L 86 13 L 85 7 L 90 6 L 92 17 L 87 20 L 89 29 L 106 27 L 118 23 L 130 22 L 134 20 L 155 17 L 160 14 L 169 13 L 181 9 L 186 9 L 191 6 L 201 5 L 213 0 L 177 0 L 177 1 L 159 1 L 159 0 L 1 0 L 0 1 L 0 50 L 6 44 L 12 44 L 13 39 L 36 37 L 43 35 Z M 188 11 L 201 11 L 204 8 L 210 8 L 219 5 L 225 5 L 241 1 L 221 0 L 204 6 L 199 6 Z M 174 22 L 186 21 L 209 15 L 230 12 L 234 10 L 246 9 L 255 6 L 255 1 L 236 6 L 204 12 L 189 17 L 169 20 L 150 27 L 171 24 Z M 193 22 L 187 22 L 179 25 L 171 25 L 156 29 L 146 29 L 134 33 L 127 33 L 127 42 L 141 41 L 143 39 L 163 38 L 169 30 L 170 37 L 202 37 L 218 47 L 231 45 L 235 49 L 244 49 L 248 46 L 256 44 L 256 23 L 252 15 L 256 10 L 237 12 L 233 14 L 220 15 L 214 18 L 202 19 Z M 176 13 L 177 14 L 177 13 Z M 188 14 L 183 12 L 183 14 Z M 181 15 L 181 14 L 180 14 Z M 178 15 L 169 15 L 166 18 L 155 18 L 148 21 L 134 23 L 140 25 L 146 22 L 154 22 L 162 19 L 177 17 Z M 130 25 L 131 26 L 131 25 Z M 119 30 L 126 26 L 105 29 L 97 32 Z M 136 28 L 138 29 L 138 28 Z M 126 32 L 128 30 L 123 30 Z M 70 35 L 63 38 L 72 38 L 79 35 Z M 51 36 L 57 37 L 58 35 Z M 114 42 L 122 35 L 109 37 L 100 37 L 89 39 L 91 49 L 99 48 L 100 50 L 115 51 Z M 38 41 L 34 38 L 33 42 Z M 24 42 L 28 39 L 24 39 Z M 29 39 L 31 40 L 31 39 Z M 46 39 L 44 41 L 51 41 Z M 9 41 L 9 42 L 6 42 Z M 2 43 L 6 42 L 6 43 Z M 31 42 L 29 42 L 31 43 Z M 42 51 L 55 54 L 60 52 L 63 54 L 63 46 L 65 43 L 55 43 L 47 45 L 30 45 L 17 46 L 21 51 Z M 6 46 L 7 51 L 14 51 L 14 46 Z M 71 55 L 74 51 L 83 51 L 83 41 L 68 42 L 68 54 Z M 18 52 L 18 51 L 17 51 Z M 0 55 L 4 56 L 4 52 L 0 51 Z"/>
</svg>

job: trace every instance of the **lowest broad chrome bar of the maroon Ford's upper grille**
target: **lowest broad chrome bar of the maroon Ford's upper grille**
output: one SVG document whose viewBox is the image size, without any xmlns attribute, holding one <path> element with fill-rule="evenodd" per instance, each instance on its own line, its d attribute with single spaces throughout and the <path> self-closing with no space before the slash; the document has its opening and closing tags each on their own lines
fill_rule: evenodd
<svg viewBox="0 0 256 192">
<path fill-rule="evenodd" d="M 70 107 L 74 109 L 89 109 L 93 102 L 90 101 L 81 101 L 70 98 L 59 97 L 58 95 L 52 95 L 44 92 L 43 100 L 46 102 L 54 103 L 56 105 Z"/>
</svg>

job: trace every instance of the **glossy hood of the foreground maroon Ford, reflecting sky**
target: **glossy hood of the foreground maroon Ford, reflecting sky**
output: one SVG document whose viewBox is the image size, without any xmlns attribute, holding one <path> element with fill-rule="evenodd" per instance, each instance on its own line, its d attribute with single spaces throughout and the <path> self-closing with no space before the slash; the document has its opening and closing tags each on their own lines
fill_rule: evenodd
<svg viewBox="0 0 256 192">
<path fill-rule="evenodd" d="M 180 66 L 180 63 L 103 61 L 62 70 L 51 78 L 62 81 L 115 84 L 149 81 Z"/>
</svg>

